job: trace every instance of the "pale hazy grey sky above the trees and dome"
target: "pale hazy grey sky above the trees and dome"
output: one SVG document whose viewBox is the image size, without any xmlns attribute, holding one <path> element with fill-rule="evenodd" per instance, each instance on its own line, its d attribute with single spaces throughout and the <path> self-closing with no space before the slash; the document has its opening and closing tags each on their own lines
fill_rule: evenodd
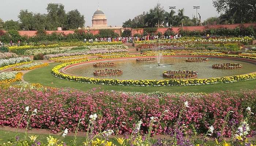
<svg viewBox="0 0 256 146">
<path fill-rule="evenodd" d="M 108 25 L 121 26 L 122 23 L 135 16 L 147 12 L 153 8 L 158 0 L 0 0 L 0 18 L 6 20 L 18 20 L 20 9 L 28 9 L 31 12 L 46 13 L 48 3 L 62 3 L 66 12 L 78 9 L 85 17 L 85 26 L 91 26 L 93 13 L 99 8 L 105 13 Z M 202 20 L 211 16 L 219 16 L 212 6 L 212 0 L 159 0 L 165 10 L 169 6 L 176 6 L 176 10 L 185 8 L 185 15 L 192 17 L 196 14 L 193 5 L 200 5 L 198 10 Z"/>
</svg>

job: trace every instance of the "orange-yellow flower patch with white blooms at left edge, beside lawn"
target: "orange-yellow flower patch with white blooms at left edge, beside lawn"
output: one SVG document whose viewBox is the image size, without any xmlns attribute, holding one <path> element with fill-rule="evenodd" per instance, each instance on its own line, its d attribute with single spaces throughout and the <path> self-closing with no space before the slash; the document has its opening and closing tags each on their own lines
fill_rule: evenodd
<svg viewBox="0 0 256 146">
<path fill-rule="evenodd" d="M 23 73 L 2 72 L 2 73 L 0 73 L 0 84 L 19 82 L 19 81 L 21 81 L 22 76 L 23 76 Z"/>
</svg>

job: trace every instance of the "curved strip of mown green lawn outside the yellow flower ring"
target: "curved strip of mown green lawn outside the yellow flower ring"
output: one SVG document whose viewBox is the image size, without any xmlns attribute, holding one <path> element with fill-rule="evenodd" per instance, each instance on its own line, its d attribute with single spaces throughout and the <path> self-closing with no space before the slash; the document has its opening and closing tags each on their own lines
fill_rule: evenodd
<svg viewBox="0 0 256 146">
<path fill-rule="evenodd" d="M 108 86 L 108 85 L 94 85 L 94 84 L 83 84 L 78 82 L 61 80 L 52 76 L 51 70 L 56 63 L 50 64 L 49 66 L 31 70 L 24 75 L 24 80 L 30 83 L 39 83 L 48 87 L 56 88 L 75 88 L 82 91 L 87 91 L 92 88 L 100 87 L 102 90 L 115 90 L 115 91 L 131 91 L 131 92 L 218 92 L 233 90 L 239 91 L 241 89 L 256 89 L 256 80 L 242 81 L 227 84 L 215 84 L 215 85 L 200 85 L 200 86 L 176 86 L 176 87 L 127 87 L 127 86 Z"/>
</svg>

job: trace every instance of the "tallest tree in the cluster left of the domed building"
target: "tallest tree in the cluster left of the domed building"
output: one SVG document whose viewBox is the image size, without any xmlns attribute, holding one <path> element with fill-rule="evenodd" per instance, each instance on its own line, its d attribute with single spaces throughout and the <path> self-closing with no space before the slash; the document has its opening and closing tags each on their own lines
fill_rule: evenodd
<svg viewBox="0 0 256 146">
<path fill-rule="evenodd" d="M 56 29 L 57 27 L 64 28 L 67 26 L 67 14 L 65 13 L 64 5 L 49 3 L 46 9 L 48 20 L 51 23 L 48 27 Z"/>
</svg>

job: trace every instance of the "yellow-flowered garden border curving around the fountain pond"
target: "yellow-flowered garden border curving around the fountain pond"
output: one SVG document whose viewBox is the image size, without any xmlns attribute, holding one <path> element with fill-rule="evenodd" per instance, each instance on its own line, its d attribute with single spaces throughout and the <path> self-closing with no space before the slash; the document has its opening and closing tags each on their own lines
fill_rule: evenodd
<svg viewBox="0 0 256 146">
<path fill-rule="evenodd" d="M 229 83 L 229 82 L 238 82 L 238 81 L 247 81 L 256 79 L 256 72 L 237 75 L 237 76 L 229 76 L 229 77 L 219 77 L 219 78 L 207 78 L 207 79 L 169 79 L 169 80 L 116 80 L 116 79 L 98 79 L 98 78 L 89 78 L 89 77 L 78 77 L 72 76 L 70 74 L 65 74 L 63 71 L 67 68 L 78 66 L 81 64 L 92 63 L 95 60 L 101 61 L 110 61 L 115 59 L 129 59 L 129 58 L 142 58 L 142 57 L 156 57 L 151 55 L 128 55 L 124 56 L 116 56 L 116 58 L 94 58 L 76 62 L 69 62 L 66 64 L 57 65 L 52 69 L 52 75 L 57 78 L 61 78 L 68 81 L 81 82 L 87 84 L 100 84 L 100 85 L 119 85 L 119 86 L 188 86 L 188 85 L 209 85 L 209 84 L 221 84 L 221 83 Z M 229 56 L 213 56 L 213 55 L 164 55 L 165 57 L 208 57 L 208 58 L 225 58 L 225 59 L 233 59 L 233 60 L 242 60 L 251 63 L 256 63 L 256 58 L 254 59 L 246 59 L 242 58 L 242 56 L 232 55 Z M 234 57 L 236 56 L 236 57 Z"/>
</svg>

